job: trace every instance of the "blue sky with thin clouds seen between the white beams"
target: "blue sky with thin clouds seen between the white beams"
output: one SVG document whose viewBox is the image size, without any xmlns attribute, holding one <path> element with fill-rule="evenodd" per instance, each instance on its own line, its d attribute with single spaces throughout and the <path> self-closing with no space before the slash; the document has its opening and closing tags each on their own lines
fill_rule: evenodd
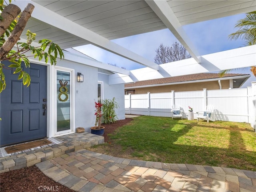
<svg viewBox="0 0 256 192">
<path fill-rule="evenodd" d="M 238 14 L 184 25 L 182 27 L 185 30 L 186 35 L 197 48 L 199 54 L 206 55 L 244 46 L 243 40 L 230 40 L 228 35 L 238 30 L 237 28 L 234 28 L 234 26 L 238 20 L 245 18 L 245 16 L 245 14 Z M 164 46 L 171 46 L 176 41 L 178 42 L 175 36 L 168 29 L 112 40 L 112 42 L 115 42 L 116 44 L 119 44 L 152 62 L 154 62 L 156 50 L 160 44 L 163 44 Z M 145 67 L 93 45 L 79 46 L 75 49 L 98 61 L 116 64 L 117 66 L 124 67 L 127 70 Z M 250 68 L 246 70 L 232 70 L 231 73 L 251 74 L 251 77 L 242 86 L 243 88 L 251 86 L 250 82 L 256 81 L 256 77 L 252 74 Z"/>
</svg>

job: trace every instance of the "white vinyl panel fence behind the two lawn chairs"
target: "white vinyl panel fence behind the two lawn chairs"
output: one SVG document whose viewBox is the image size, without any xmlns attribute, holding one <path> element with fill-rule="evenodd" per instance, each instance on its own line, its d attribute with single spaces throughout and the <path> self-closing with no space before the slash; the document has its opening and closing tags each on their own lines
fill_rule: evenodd
<svg viewBox="0 0 256 192">
<path fill-rule="evenodd" d="M 128 94 L 124 97 L 125 113 L 170 117 L 172 105 L 180 106 L 187 117 L 188 106 L 196 112 L 214 106 L 215 120 L 246 122 L 256 127 L 256 82 L 239 89 Z"/>
</svg>

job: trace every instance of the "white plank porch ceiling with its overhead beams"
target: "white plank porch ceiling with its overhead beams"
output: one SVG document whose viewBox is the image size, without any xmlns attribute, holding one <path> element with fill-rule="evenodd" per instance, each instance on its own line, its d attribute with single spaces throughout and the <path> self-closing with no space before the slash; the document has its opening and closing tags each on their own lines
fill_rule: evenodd
<svg viewBox="0 0 256 192">
<path fill-rule="evenodd" d="M 48 38 L 61 48 L 94 44 L 134 62 L 160 70 L 154 62 L 110 41 L 168 28 L 190 52 L 196 63 L 201 56 L 182 25 L 256 10 L 256 0 L 16 0 L 22 10 L 35 9 L 26 30 L 37 39 Z"/>
</svg>

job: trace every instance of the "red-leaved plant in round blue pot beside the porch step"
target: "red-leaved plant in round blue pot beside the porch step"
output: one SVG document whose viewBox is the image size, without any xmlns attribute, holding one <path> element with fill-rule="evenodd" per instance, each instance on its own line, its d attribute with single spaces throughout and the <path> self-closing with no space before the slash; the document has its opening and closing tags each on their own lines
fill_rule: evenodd
<svg viewBox="0 0 256 192">
<path fill-rule="evenodd" d="M 94 115 L 96 116 L 96 120 L 95 120 L 94 127 L 91 127 L 91 133 L 103 136 L 105 127 L 101 126 L 102 104 L 100 102 L 98 102 L 98 103 L 94 102 L 94 103 L 95 103 L 95 114 Z"/>
</svg>

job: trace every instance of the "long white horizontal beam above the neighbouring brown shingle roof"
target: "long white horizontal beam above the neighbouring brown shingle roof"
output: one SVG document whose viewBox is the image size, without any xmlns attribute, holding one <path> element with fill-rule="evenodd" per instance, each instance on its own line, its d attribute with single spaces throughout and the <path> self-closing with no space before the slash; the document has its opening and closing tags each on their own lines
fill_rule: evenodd
<svg viewBox="0 0 256 192">
<path fill-rule="evenodd" d="M 197 74 L 205 72 L 215 72 L 226 69 L 242 68 L 254 66 L 256 63 L 256 45 L 241 47 L 223 52 L 212 53 L 202 56 L 202 62 L 196 63 L 193 58 L 175 61 L 166 64 L 160 64 L 160 68 L 170 77 Z M 158 79 L 167 77 L 159 71 L 150 68 L 141 68 L 130 71 L 130 77 L 133 82 Z M 110 84 L 129 83 L 123 76 L 118 77 L 112 74 L 109 77 Z"/>
</svg>

